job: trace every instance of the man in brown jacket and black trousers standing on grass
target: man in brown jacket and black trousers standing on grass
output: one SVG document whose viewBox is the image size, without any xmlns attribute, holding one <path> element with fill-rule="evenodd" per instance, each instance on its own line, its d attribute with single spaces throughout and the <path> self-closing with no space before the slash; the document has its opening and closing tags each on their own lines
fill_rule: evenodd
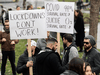
<svg viewBox="0 0 100 75">
<path fill-rule="evenodd" d="M 5 20 L 4 30 L 5 32 L 0 32 L 0 44 L 2 49 L 1 75 L 5 75 L 5 66 L 7 62 L 7 57 L 10 60 L 13 75 L 16 75 L 14 49 L 15 49 L 15 44 L 17 44 L 19 40 L 10 40 L 9 20 Z"/>
</svg>

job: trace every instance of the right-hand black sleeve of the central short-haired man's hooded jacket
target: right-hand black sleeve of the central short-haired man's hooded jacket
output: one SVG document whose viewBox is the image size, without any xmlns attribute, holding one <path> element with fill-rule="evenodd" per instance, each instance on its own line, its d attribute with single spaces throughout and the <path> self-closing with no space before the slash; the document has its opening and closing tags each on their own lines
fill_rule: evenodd
<svg viewBox="0 0 100 75">
<path fill-rule="evenodd" d="M 66 70 L 65 67 L 62 67 L 60 60 L 59 60 L 59 57 L 56 54 L 53 54 L 50 57 L 49 63 L 50 63 L 50 66 L 56 75 L 59 75 Z"/>
</svg>

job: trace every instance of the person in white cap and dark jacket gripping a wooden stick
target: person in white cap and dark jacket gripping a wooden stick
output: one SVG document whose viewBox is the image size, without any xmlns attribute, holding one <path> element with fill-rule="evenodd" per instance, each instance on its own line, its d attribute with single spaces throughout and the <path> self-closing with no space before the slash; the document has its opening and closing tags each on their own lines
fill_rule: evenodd
<svg viewBox="0 0 100 75">
<path fill-rule="evenodd" d="M 24 53 L 19 57 L 17 63 L 17 73 L 22 73 L 23 75 L 29 75 L 29 67 L 33 67 L 33 74 L 36 75 L 35 69 L 35 56 L 38 54 L 39 49 L 36 47 L 36 42 L 31 40 L 31 51 L 32 57 L 28 57 L 28 43 L 26 44 L 27 48 Z M 34 65 L 34 66 L 33 66 Z"/>
</svg>

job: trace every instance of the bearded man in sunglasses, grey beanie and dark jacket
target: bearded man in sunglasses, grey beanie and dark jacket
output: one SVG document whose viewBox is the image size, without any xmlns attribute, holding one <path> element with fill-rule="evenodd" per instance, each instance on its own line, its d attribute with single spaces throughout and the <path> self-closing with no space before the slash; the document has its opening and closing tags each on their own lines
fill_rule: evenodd
<svg viewBox="0 0 100 75">
<path fill-rule="evenodd" d="M 90 63 L 92 72 L 99 75 L 100 72 L 100 52 L 94 47 L 96 41 L 92 35 L 84 38 L 84 54 L 83 60 Z"/>
</svg>

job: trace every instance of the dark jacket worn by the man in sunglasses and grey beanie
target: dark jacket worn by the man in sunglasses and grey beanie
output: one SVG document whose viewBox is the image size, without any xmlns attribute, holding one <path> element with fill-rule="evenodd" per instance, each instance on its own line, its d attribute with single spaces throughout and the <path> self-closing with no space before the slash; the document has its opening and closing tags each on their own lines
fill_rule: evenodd
<svg viewBox="0 0 100 75">
<path fill-rule="evenodd" d="M 83 60 L 90 63 L 92 72 L 95 72 L 96 75 L 99 75 L 100 72 L 100 52 L 97 49 L 92 48 L 88 52 L 84 51 Z"/>
</svg>

